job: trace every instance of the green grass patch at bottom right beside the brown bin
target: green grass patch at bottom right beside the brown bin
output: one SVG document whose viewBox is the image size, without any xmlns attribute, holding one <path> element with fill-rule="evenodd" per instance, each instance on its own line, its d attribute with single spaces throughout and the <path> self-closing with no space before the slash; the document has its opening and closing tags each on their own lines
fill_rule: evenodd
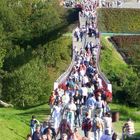
<svg viewBox="0 0 140 140">
<path fill-rule="evenodd" d="M 140 136 L 140 109 L 130 108 L 120 104 L 110 104 L 110 107 L 111 110 L 118 110 L 120 113 L 119 121 L 113 123 L 113 129 L 119 136 L 121 136 L 122 126 L 128 118 L 131 118 L 134 121 L 135 136 Z"/>
</svg>

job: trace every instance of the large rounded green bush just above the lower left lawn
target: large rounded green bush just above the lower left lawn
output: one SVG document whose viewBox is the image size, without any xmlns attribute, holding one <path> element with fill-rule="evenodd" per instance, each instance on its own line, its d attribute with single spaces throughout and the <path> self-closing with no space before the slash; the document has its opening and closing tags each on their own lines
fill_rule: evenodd
<svg viewBox="0 0 140 140">
<path fill-rule="evenodd" d="M 47 68 L 38 58 L 3 78 L 3 99 L 18 107 L 46 103 L 50 90 Z"/>
</svg>

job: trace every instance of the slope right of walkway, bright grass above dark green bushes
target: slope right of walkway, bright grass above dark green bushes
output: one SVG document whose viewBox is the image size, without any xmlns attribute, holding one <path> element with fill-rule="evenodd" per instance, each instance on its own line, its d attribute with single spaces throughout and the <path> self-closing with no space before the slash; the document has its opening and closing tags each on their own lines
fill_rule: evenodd
<svg viewBox="0 0 140 140">
<path fill-rule="evenodd" d="M 113 85 L 114 101 L 129 106 L 140 106 L 138 73 L 125 63 L 108 37 L 102 37 L 101 70 Z M 135 82 L 134 82 L 135 81 Z"/>
</svg>

